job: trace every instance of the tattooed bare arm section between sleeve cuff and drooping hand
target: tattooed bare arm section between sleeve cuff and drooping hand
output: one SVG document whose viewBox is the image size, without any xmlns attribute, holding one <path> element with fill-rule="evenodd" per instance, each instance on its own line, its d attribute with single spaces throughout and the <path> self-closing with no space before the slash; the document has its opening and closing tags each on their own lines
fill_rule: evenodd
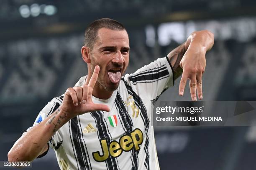
<svg viewBox="0 0 256 170">
<path fill-rule="evenodd" d="M 179 66 L 180 61 L 182 60 L 183 55 L 186 52 L 185 43 L 179 45 L 179 47 L 172 50 L 167 57 L 174 70 L 174 80 L 176 80 L 180 75 L 182 75 L 182 68 Z"/>
</svg>

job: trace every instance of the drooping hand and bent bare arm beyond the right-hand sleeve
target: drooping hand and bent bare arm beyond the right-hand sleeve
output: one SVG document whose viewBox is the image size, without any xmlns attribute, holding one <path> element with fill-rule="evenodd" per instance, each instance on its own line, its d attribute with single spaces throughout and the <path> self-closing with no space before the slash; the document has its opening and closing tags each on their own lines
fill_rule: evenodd
<svg viewBox="0 0 256 170">
<path fill-rule="evenodd" d="M 174 70 L 174 80 L 182 74 L 179 84 L 179 95 L 184 94 L 184 89 L 189 79 L 192 100 L 203 98 L 202 74 L 205 71 L 205 54 L 214 44 L 214 35 L 208 30 L 195 31 L 179 47 L 175 48 L 167 57 Z M 197 91 L 197 95 L 196 95 Z"/>
</svg>

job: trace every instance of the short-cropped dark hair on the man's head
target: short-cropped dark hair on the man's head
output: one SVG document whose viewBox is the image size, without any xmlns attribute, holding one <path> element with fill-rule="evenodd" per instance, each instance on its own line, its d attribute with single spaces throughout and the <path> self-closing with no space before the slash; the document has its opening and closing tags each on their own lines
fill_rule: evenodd
<svg viewBox="0 0 256 170">
<path fill-rule="evenodd" d="M 116 20 L 101 18 L 92 22 L 84 32 L 84 45 L 93 48 L 97 40 L 98 30 L 108 28 L 110 30 L 126 30 L 125 27 Z"/>
</svg>

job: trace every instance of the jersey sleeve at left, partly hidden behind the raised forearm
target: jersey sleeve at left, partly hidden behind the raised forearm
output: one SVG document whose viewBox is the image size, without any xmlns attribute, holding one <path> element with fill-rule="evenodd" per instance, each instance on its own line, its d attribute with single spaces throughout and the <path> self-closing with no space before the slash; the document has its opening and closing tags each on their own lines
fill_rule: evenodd
<svg viewBox="0 0 256 170">
<path fill-rule="evenodd" d="M 30 128 L 28 128 L 28 130 L 26 130 L 26 132 L 28 132 L 29 130 L 31 130 L 34 126 L 38 125 L 39 123 L 41 123 L 42 121 L 44 121 L 48 116 L 50 116 L 55 110 L 57 110 L 59 108 L 59 106 L 62 104 L 62 100 L 63 100 L 63 95 L 60 97 L 55 97 L 54 99 L 52 99 L 50 102 L 47 103 L 47 105 L 39 112 L 38 116 L 36 117 L 35 122 L 33 123 L 33 126 L 31 126 Z M 26 133 L 25 132 L 25 133 Z M 23 133 L 24 134 L 24 133 Z M 54 149 L 58 149 L 60 147 L 60 145 L 63 142 L 63 137 L 60 133 L 60 130 L 57 130 L 56 133 L 51 137 L 51 139 L 48 141 L 48 146 Z M 49 148 L 48 148 L 49 150 Z M 39 155 L 37 158 L 41 158 L 44 155 L 46 155 L 46 153 L 48 152 L 48 150 Z"/>
</svg>

